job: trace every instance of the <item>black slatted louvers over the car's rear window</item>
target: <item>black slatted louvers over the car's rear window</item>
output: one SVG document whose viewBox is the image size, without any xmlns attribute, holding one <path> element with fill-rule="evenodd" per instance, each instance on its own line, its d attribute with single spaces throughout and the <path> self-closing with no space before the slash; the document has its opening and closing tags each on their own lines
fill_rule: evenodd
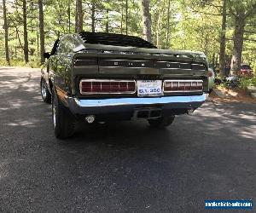
<svg viewBox="0 0 256 213">
<path fill-rule="evenodd" d="M 84 43 L 156 49 L 152 43 L 148 43 L 141 37 L 104 32 L 79 32 L 79 35 L 83 38 Z"/>
</svg>

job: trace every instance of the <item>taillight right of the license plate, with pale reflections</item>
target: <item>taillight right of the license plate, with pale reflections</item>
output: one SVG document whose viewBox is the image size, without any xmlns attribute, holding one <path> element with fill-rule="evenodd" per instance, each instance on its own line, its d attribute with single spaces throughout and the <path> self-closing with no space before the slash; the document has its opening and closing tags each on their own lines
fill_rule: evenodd
<svg viewBox="0 0 256 213">
<path fill-rule="evenodd" d="M 166 80 L 164 92 L 201 92 L 203 90 L 202 80 Z"/>
</svg>

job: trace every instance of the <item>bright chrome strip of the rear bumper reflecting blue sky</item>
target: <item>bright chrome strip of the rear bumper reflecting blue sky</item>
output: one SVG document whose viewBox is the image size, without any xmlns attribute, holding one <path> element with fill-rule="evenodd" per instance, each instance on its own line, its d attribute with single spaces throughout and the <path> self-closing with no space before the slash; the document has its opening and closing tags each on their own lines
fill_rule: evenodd
<svg viewBox="0 0 256 213">
<path fill-rule="evenodd" d="M 206 101 L 207 95 L 189 96 L 161 96 L 161 97 L 134 97 L 134 98 L 111 98 L 111 99 L 74 99 L 79 107 L 111 107 L 111 106 L 132 106 L 132 105 L 152 105 L 171 103 L 190 103 Z"/>
</svg>

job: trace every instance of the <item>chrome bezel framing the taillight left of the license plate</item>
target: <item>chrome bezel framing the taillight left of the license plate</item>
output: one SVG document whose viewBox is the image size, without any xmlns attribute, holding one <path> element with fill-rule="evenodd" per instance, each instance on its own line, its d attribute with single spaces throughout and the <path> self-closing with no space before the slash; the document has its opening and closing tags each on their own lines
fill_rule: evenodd
<svg viewBox="0 0 256 213">
<path fill-rule="evenodd" d="M 134 90 L 132 91 L 122 91 L 122 92 L 84 92 L 82 90 L 83 82 L 91 83 L 134 83 Z M 81 95 L 134 95 L 137 92 L 137 83 L 135 80 L 125 80 L 125 79 L 81 79 L 79 83 L 79 92 Z"/>
</svg>

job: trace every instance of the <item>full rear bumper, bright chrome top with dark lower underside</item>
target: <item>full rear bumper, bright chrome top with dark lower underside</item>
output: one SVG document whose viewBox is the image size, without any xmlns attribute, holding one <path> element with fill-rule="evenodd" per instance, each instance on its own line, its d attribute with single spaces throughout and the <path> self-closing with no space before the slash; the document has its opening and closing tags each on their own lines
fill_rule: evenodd
<svg viewBox="0 0 256 213">
<path fill-rule="evenodd" d="M 102 114 L 133 111 L 137 107 L 161 107 L 163 110 L 191 109 L 200 107 L 207 95 L 182 95 L 162 97 L 133 97 L 108 99 L 68 98 L 67 103 L 74 114 Z"/>
</svg>

